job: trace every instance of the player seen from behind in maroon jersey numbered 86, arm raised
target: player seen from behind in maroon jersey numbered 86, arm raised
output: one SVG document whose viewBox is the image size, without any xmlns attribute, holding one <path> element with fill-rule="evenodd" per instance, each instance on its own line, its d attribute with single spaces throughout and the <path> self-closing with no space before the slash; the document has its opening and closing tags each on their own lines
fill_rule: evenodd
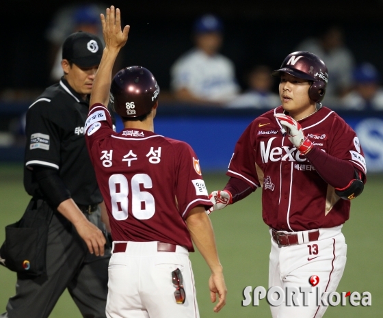
<svg viewBox="0 0 383 318">
<path fill-rule="evenodd" d="M 213 204 L 198 158 L 185 142 L 154 133 L 159 86 L 141 66 L 111 70 L 129 26 L 120 10 L 101 15 L 105 49 L 94 79 L 85 137 L 105 199 L 113 254 L 109 262 L 107 317 L 199 317 L 189 252 L 196 244 L 211 269 L 211 301 L 226 302 L 226 286 L 213 228 Z M 109 99 L 124 122 L 115 133 Z"/>
</svg>

